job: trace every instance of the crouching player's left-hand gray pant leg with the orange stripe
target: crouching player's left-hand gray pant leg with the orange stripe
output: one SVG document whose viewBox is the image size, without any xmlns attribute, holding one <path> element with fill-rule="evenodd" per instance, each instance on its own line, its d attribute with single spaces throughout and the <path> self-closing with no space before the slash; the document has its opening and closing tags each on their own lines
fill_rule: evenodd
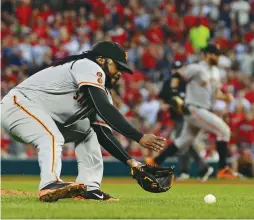
<svg viewBox="0 0 254 220">
<path fill-rule="evenodd" d="M 64 138 L 52 118 L 20 93 L 8 95 L 2 104 L 2 124 L 11 136 L 38 149 L 39 189 L 59 180 Z"/>
</svg>

